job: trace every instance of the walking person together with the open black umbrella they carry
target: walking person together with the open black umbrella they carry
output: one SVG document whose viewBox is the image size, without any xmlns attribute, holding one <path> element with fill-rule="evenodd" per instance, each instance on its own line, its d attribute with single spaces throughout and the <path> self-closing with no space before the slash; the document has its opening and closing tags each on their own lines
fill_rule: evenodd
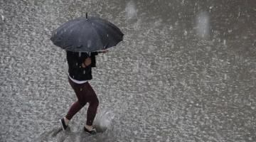
<svg viewBox="0 0 256 142">
<path fill-rule="evenodd" d="M 95 134 L 92 127 L 99 100 L 88 80 L 92 80 L 92 67 L 96 67 L 95 56 L 107 53 L 108 48 L 123 40 L 124 33 L 110 21 L 100 17 L 85 16 L 73 18 L 56 28 L 50 37 L 54 45 L 66 50 L 68 60 L 68 82 L 74 89 L 78 101 L 60 119 L 65 131 L 73 116 L 89 103 L 85 132 Z"/>
</svg>

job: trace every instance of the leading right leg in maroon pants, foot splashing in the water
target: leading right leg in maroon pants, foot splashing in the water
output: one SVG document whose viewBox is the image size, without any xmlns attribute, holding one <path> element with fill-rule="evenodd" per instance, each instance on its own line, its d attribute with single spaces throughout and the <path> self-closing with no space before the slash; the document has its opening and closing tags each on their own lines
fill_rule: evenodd
<svg viewBox="0 0 256 142">
<path fill-rule="evenodd" d="M 97 113 L 99 100 L 97 99 L 95 91 L 92 89 L 92 87 L 88 82 L 85 83 L 85 89 L 86 89 L 86 93 L 83 96 L 83 98 L 90 104 L 87 109 L 87 121 L 86 121 L 85 128 L 90 130 L 92 129 L 92 124 Z"/>
</svg>

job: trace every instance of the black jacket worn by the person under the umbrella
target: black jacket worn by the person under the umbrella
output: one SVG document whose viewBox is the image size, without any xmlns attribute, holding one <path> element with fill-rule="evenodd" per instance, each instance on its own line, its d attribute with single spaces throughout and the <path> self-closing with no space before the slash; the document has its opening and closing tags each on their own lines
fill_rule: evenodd
<svg viewBox="0 0 256 142">
<path fill-rule="evenodd" d="M 68 60 L 68 73 L 70 77 L 75 80 L 92 80 L 92 67 L 96 67 L 96 58 L 97 53 L 80 53 L 66 51 L 67 60 Z M 85 59 L 90 57 L 92 63 L 87 67 L 82 67 L 82 62 L 85 62 Z"/>
</svg>

